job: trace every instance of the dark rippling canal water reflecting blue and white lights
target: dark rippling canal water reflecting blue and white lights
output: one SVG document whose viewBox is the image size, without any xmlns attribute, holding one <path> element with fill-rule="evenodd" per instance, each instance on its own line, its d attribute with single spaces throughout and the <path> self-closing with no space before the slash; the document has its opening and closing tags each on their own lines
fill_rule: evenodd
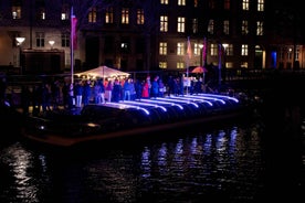
<svg viewBox="0 0 305 203">
<path fill-rule="evenodd" d="M 294 111 L 69 150 L 15 139 L 0 148 L 0 202 L 304 202 Z"/>
</svg>

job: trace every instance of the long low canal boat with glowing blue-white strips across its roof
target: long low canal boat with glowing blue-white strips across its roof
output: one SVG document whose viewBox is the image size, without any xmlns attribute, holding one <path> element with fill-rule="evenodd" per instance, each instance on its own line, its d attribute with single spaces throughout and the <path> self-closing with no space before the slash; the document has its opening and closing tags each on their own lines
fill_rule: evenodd
<svg viewBox="0 0 305 203">
<path fill-rule="evenodd" d="M 248 103 L 223 95 L 185 95 L 87 105 L 80 114 L 30 116 L 24 138 L 52 146 L 146 135 L 194 124 L 230 119 L 245 114 Z"/>
</svg>

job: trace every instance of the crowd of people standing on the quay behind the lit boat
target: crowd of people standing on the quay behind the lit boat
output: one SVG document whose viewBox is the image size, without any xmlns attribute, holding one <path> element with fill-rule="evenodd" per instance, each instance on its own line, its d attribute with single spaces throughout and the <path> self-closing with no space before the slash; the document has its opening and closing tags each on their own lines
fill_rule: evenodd
<svg viewBox="0 0 305 203">
<path fill-rule="evenodd" d="M 88 104 L 140 100 L 171 95 L 197 94 L 204 92 L 202 78 L 188 81 L 185 75 L 166 77 L 166 82 L 155 75 L 146 78 L 95 78 L 76 79 L 73 84 L 60 79 L 24 85 L 21 89 L 22 111 L 45 113 L 54 109 L 75 109 Z"/>
</svg>

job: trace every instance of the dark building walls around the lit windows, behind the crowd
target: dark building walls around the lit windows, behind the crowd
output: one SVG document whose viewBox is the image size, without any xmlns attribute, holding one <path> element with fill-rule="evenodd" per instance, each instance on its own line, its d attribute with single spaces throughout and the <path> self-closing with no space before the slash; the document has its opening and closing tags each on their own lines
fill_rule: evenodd
<svg viewBox="0 0 305 203">
<path fill-rule="evenodd" d="M 8 1 L 0 2 L 0 66 L 12 64 L 13 67 L 20 66 L 19 56 L 20 49 L 22 50 L 35 50 L 35 51 L 48 51 L 56 49 L 64 52 L 64 66 L 65 70 L 71 68 L 71 50 L 70 47 L 63 47 L 61 45 L 61 34 L 63 32 L 70 32 L 70 20 L 62 21 L 60 19 L 62 11 L 62 1 L 52 0 L 44 1 L 45 8 L 45 20 L 36 20 L 35 12 L 38 11 L 38 4 L 34 0 L 20 0 L 22 3 L 22 18 L 11 19 L 11 3 Z M 71 8 L 70 1 L 66 1 L 69 9 Z M 73 1 L 74 2 L 74 1 Z M 159 1 L 146 0 L 146 1 L 129 1 L 124 4 L 123 1 L 112 1 L 109 4 L 95 4 L 97 9 L 97 21 L 96 23 L 87 22 L 87 7 L 83 7 L 84 3 L 90 6 L 90 1 L 80 1 L 74 4 L 75 15 L 78 20 L 77 26 L 77 49 L 73 51 L 74 63 L 76 71 L 85 71 L 93 68 L 98 65 L 109 63 L 109 65 L 122 68 L 123 71 L 149 71 L 159 70 L 159 62 L 166 61 L 167 68 L 172 71 L 177 70 L 177 62 L 185 62 L 186 66 L 198 65 L 200 62 L 200 55 L 197 55 L 190 60 L 183 56 L 177 55 L 177 43 L 186 42 L 187 38 L 190 36 L 191 45 L 193 43 L 202 42 L 203 38 L 208 39 L 208 64 L 218 65 L 219 56 L 210 55 L 210 44 L 223 44 L 230 43 L 234 45 L 234 55 L 225 56 L 222 58 L 222 63 L 231 64 L 230 68 L 240 68 L 246 62 L 248 68 L 273 68 L 272 53 L 276 52 L 277 55 L 283 46 L 293 46 L 293 39 L 288 39 L 285 43 L 277 44 L 276 36 L 270 34 L 269 24 L 265 22 L 270 17 L 269 13 L 273 12 L 270 7 L 270 1 L 265 0 L 265 11 L 257 12 L 256 2 L 250 1 L 250 11 L 241 10 L 241 1 L 231 0 L 231 9 L 223 9 L 224 1 L 214 1 L 215 7 L 210 9 L 209 2 L 212 1 L 198 1 L 198 7 L 193 7 L 192 2 L 188 1 L 186 6 L 177 6 L 177 1 L 169 1 L 169 4 L 159 4 Z M 92 1 L 96 2 L 96 1 Z M 126 1 L 127 2 L 127 1 Z M 114 8 L 114 23 L 105 24 L 105 10 L 108 7 Z M 129 24 L 122 25 L 120 23 L 120 11 L 122 8 L 129 7 Z M 143 8 L 145 11 L 146 24 L 143 26 L 136 25 L 136 11 L 138 8 Z M 159 32 L 159 18 L 161 14 L 169 17 L 169 30 L 166 33 Z M 177 32 L 177 18 L 186 17 L 186 32 Z M 199 30 L 197 33 L 192 32 L 191 19 L 198 18 Z M 209 19 L 214 19 L 215 29 L 214 34 L 207 32 L 207 24 Z M 230 20 L 230 34 L 223 33 L 223 21 Z M 249 20 L 249 35 L 241 34 L 241 21 Z M 256 36 L 255 34 L 255 22 L 257 20 L 264 21 L 265 31 L 264 35 Z M 45 33 L 45 46 L 35 46 L 35 33 Z M 24 43 L 21 46 L 14 45 L 14 35 L 21 35 L 25 38 Z M 105 44 L 108 38 L 113 38 L 114 44 L 109 52 L 105 52 Z M 96 39 L 92 41 L 92 39 Z M 120 45 L 124 39 L 128 39 L 129 52 L 120 53 Z M 145 50 L 143 53 L 136 52 L 138 39 L 144 39 Z M 48 43 L 50 40 L 54 40 L 55 44 L 53 47 Z M 168 55 L 159 55 L 159 42 L 168 42 Z M 96 42 L 96 44 L 94 44 Z M 93 43 L 93 44 L 91 44 Z M 241 56 L 241 45 L 249 44 L 249 55 Z M 274 45 L 275 44 L 275 45 Z M 263 53 L 260 56 L 261 62 L 257 62 L 257 55 L 255 55 L 255 46 L 261 47 Z M 297 44 L 299 47 L 299 67 L 305 67 L 304 62 L 304 47 L 302 44 Z M 278 64 L 284 64 L 283 68 L 290 68 L 290 63 L 294 64 L 288 60 L 283 62 L 276 58 L 274 68 L 277 68 Z M 257 66 L 261 64 L 261 67 Z"/>
</svg>

